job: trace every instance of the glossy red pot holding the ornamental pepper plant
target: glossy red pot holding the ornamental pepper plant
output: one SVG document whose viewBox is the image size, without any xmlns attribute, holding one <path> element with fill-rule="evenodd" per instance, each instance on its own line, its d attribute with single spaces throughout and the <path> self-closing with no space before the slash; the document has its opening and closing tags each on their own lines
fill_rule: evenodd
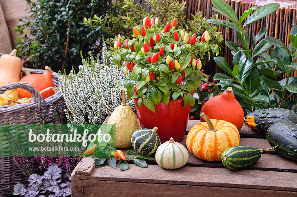
<svg viewBox="0 0 297 197">
<path fill-rule="evenodd" d="M 180 142 L 185 137 L 191 105 L 188 104 L 183 110 L 183 99 L 170 100 L 168 106 L 161 101 L 155 105 L 155 112 L 149 110 L 141 103 L 141 108 L 138 107 L 137 101 L 140 98 L 135 98 L 134 103 L 140 122 L 140 128 L 153 129 L 158 127 L 157 134 L 161 138 L 161 142 L 169 141 L 173 137 L 174 141 Z"/>
</svg>

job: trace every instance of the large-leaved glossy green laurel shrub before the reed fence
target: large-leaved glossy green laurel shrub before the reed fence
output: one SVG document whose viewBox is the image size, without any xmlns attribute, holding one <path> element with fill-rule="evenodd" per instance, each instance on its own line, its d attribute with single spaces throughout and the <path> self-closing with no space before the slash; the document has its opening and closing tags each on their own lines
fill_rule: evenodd
<svg viewBox="0 0 297 197">
<path fill-rule="evenodd" d="M 279 4 L 270 3 L 258 9 L 251 7 L 244 11 L 240 18 L 237 18 L 228 3 L 222 0 L 213 0 L 212 3 L 215 6 L 213 10 L 226 16 L 230 21 L 209 19 L 207 22 L 235 30 L 243 46 L 240 47 L 237 43 L 230 41 L 225 42 L 232 50 L 233 68 L 223 57 L 215 57 L 214 60 L 232 78 L 218 73 L 214 76 L 214 80 L 220 80 L 218 85 L 221 85 L 223 90 L 232 86 L 236 99 L 248 111 L 269 107 L 284 107 L 295 111 L 297 109 L 297 77 L 290 77 L 290 74 L 291 71 L 297 69 L 297 64 L 294 63 L 297 58 L 297 26 L 293 26 L 290 31 L 289 47 L 271 36 L 262 39 L 266 30 L 259 31 L 254 38 L 249 38 L 244 27 L 271 14 L 279 7 Z M 251 45 L 250 39 L 253 39 Z M 271 49 L 272 46 L 275 48 Z M 269 49 L 270 54 L 266 53 Z M 259 58 L 254 62 L 254 57 Z M 287 78 L 277 81 L 276 78 L 284 73 L 287 74 Z M 233 82 L 236 83 L 233 84 Z M 295 101 L 287 101 L 291 96 L 295 97 Z"/>
</svg>

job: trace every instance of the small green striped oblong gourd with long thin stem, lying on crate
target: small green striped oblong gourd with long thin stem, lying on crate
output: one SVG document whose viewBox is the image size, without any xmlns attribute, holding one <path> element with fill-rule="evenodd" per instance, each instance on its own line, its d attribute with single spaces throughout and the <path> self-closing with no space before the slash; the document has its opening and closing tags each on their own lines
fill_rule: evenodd
<svg viewBox="0 0 297 197">
<path fill-rule="evenodd" d="M 233 146 L 227 148 L 222 154 L 222 162 L 226 168 L 231 170 L 243 169 L 261 158 L 264 150 L 273 148 L 259 149 L 252 146 Z"/>
</svg>

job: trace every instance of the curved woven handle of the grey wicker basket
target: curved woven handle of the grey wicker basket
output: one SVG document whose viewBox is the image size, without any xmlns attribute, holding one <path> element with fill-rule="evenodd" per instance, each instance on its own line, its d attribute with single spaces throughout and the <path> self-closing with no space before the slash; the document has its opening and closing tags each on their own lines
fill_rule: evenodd
<svg viewBox="0 0 297 197">
<path fill-rule="evenodd" d="M 33 98 L 36 98 L 38 103 L 37 111 L 40 110 L 41 101 L 43 102 L 44 107 L 46 107 L 46 103 L 43 96 L 41 96 L 41 94 L 29 83 L 25 83 L 25 82 L 7 83 L 5 85 L 0 86 L 0 94 L 3 94 L 7 90 L 13 90 L 17 88 L 28 90 L 33 95 Z M 33 102 L 35 102 L 35 99 L 33 100 Z"/>
</svg>

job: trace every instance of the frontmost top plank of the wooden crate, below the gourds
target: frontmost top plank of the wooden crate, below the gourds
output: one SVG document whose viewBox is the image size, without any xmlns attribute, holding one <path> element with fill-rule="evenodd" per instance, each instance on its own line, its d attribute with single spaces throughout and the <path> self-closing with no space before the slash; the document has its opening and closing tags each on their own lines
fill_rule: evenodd
<svg viewBox="0 0 297 197">
<path fill-rule="evenodd" d="M 126 171 L 105 166 L 95 168 L 91 176 L 72 173 L 71 179 L 297 191 L 295 173 L 190 166 L 168 170 L 157 165 L 140 168 L 136 164 L 129 164 Z"/>
</svg>

